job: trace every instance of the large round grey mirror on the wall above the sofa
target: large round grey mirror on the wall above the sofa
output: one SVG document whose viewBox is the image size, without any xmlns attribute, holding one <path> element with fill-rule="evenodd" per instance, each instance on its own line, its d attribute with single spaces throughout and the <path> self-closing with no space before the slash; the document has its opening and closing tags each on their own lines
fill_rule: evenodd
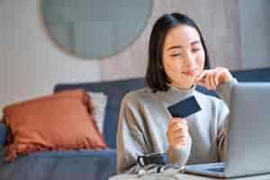
<svg viewBox="0 0 270 180">
<path fill-rule="evenodd" d="M 43 0 L 43 21 L 61 49 L 81 58 L 106 58 L 144 30 L 151 0 Z"/>
</svg>

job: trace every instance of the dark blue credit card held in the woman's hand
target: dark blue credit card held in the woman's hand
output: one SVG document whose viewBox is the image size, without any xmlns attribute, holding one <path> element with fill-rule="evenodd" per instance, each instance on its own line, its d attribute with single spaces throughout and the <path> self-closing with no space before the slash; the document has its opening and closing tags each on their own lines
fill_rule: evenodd
<svg viewBox="0 0 270 180">
<path fill-rule="evenodd" d="M 175 118 L 186 118 L 195 112 L 202 110 L 200 104 L 196 101 L 194 96 L 190 96 L 183 101 L 175 103 L 167 108 L 171 115 Z"/>
</svg>

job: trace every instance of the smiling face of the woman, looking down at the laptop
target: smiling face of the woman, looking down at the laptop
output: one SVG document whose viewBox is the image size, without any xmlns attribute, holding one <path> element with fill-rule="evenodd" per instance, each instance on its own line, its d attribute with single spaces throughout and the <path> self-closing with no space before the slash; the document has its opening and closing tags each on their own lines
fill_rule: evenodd
<svg viewBox="0 0 270 180">
<path fill-rule="evenodd" d="M 172 85 L 190 88 L 196 76 L 202 73 L 204 60 L 202 41 L 196 29 L 179 24 L 167 32 L 162 63 Z"/>
</svg>

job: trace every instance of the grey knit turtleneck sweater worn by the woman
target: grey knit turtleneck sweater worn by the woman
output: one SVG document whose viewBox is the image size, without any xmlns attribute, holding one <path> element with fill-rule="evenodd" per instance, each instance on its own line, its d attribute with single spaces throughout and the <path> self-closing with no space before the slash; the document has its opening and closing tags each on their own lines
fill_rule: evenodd
<svg viewBox="0 0 270 180">
<path fill-rule="evenodd" d="M 232 78 L 229 83 L 217 87 L 222 100 L 196 91 L 195 86 L 188 90 L 170 86 L 168 91 L 156 93 L 145 87 L 126 94 L 121 102 L 117 130 L 117 173 L 134 167 L 137 156 L 148 153 L 166 152 L 168 162 L 180 166 L 223 160 L 230 88 L 236 83 Z M 195 96 L 202 111 L 186 118 L 190 139 L 184 148 L 175 149 L 166 139 L 172 118 L 166 107 L 191 95 Z"/>
</svg>

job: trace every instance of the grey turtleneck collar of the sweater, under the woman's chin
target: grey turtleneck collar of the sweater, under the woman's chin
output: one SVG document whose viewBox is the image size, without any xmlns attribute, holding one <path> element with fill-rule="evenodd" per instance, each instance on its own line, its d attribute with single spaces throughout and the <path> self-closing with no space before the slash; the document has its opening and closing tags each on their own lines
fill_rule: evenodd
<svg viewBox="0 0 270 180">
<path fill-rule="evenodd" d="M 167 91 L 157 91 L 155 95 L 157 95 L 159 101 L 168 106 L 193 95 L 195 87 L 196 86 L 193 85 L 189 89 L 181 89 L 179 87 L 175 87 L 174 85 L 169 85 L 169 89 Z"/>
</svg>

